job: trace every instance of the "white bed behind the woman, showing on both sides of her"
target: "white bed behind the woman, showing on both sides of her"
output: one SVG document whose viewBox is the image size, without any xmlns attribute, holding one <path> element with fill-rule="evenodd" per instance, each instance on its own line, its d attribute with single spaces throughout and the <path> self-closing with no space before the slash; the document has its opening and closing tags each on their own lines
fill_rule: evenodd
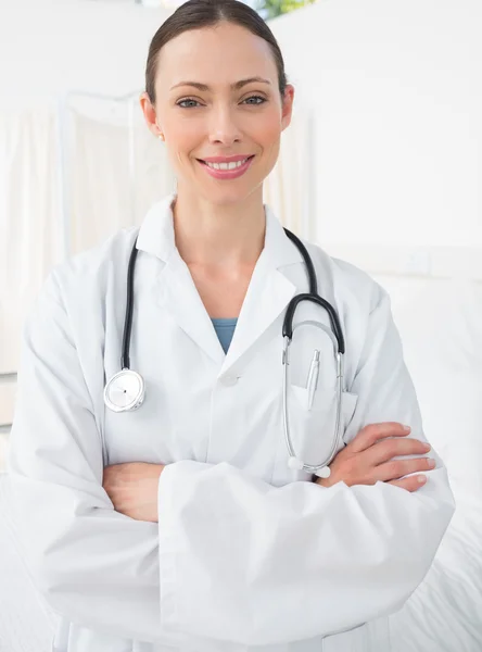
<svg viewBox="0 0 482 652">
<path fill-rule="evenodd" d="M 390 617 L 391 650 L 480 652 L 482 251 L 328 250 L 367 269 L 390 292 L 426 434 L 448 467 L 457 502 L 426 579 Z M 13 546 L 8 476 L 0 475 L 0 651 L 50 652 L 56 616 Z"/>
</svg>

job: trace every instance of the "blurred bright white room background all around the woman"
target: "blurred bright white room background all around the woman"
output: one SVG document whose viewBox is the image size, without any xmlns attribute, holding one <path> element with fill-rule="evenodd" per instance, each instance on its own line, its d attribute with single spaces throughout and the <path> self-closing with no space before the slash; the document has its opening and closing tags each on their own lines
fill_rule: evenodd
<svg viewBox="0 0 482 652">
<path fill-rule="evenodd" d="M 0 2 L 0 467 L 21 328 L 49 269 L 139 224 L 174 189 L 138 97 L 150 40 L 177 4 Z M 446 553 L 464 573 L 457 604 L 454 584 L 436 585 L 451 606 L 419 627 L 394 622 L 399 649 L 480 652 L 482 2 L 250 4 L 296 88 L 265 201 L 389 290 L 426 432 L 459 505 Z M 408 609 L 427 618 L 417 599 Z"/>
</svg>

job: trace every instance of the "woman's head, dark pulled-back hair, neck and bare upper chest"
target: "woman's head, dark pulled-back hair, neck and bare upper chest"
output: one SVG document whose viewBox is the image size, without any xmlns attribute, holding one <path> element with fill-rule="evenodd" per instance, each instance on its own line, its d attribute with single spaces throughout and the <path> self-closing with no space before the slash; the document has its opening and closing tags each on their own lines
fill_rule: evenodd
<svg viewBox="0 0 482 652">
<path fill-rule="evenodd" d="M 177 176 L 176 246 L 211 317 L 240 313 L 293 97 L 276 39 L 241 2 L 187 2 L 152 39 L 141 106 Z"/>
</svg>

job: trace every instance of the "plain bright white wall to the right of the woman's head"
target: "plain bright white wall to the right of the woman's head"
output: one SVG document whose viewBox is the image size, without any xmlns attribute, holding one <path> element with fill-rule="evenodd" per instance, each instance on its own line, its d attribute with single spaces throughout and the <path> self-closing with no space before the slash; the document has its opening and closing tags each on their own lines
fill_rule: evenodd
<svg viewBox="0 0 482 652">
<path fill-rule="evenodd" d="M 270 26 L 316 115 L 318 240 L 482 246 L 482 2 L 321 0 Z"/>
</svg>

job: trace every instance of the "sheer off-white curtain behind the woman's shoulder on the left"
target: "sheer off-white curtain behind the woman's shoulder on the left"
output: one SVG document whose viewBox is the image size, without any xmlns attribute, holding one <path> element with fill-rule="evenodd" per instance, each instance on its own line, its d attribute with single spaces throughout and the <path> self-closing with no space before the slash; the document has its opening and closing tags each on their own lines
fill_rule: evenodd
<svg viewBox="0 0 482 652">
<path fill-rule="evenodd" d="M 51 267 L 138 224 L 173 188 L 165 146 L 139 116 L 0 112 L 0 374 L 17 368 L 23 318 Z"/>
</svg>

